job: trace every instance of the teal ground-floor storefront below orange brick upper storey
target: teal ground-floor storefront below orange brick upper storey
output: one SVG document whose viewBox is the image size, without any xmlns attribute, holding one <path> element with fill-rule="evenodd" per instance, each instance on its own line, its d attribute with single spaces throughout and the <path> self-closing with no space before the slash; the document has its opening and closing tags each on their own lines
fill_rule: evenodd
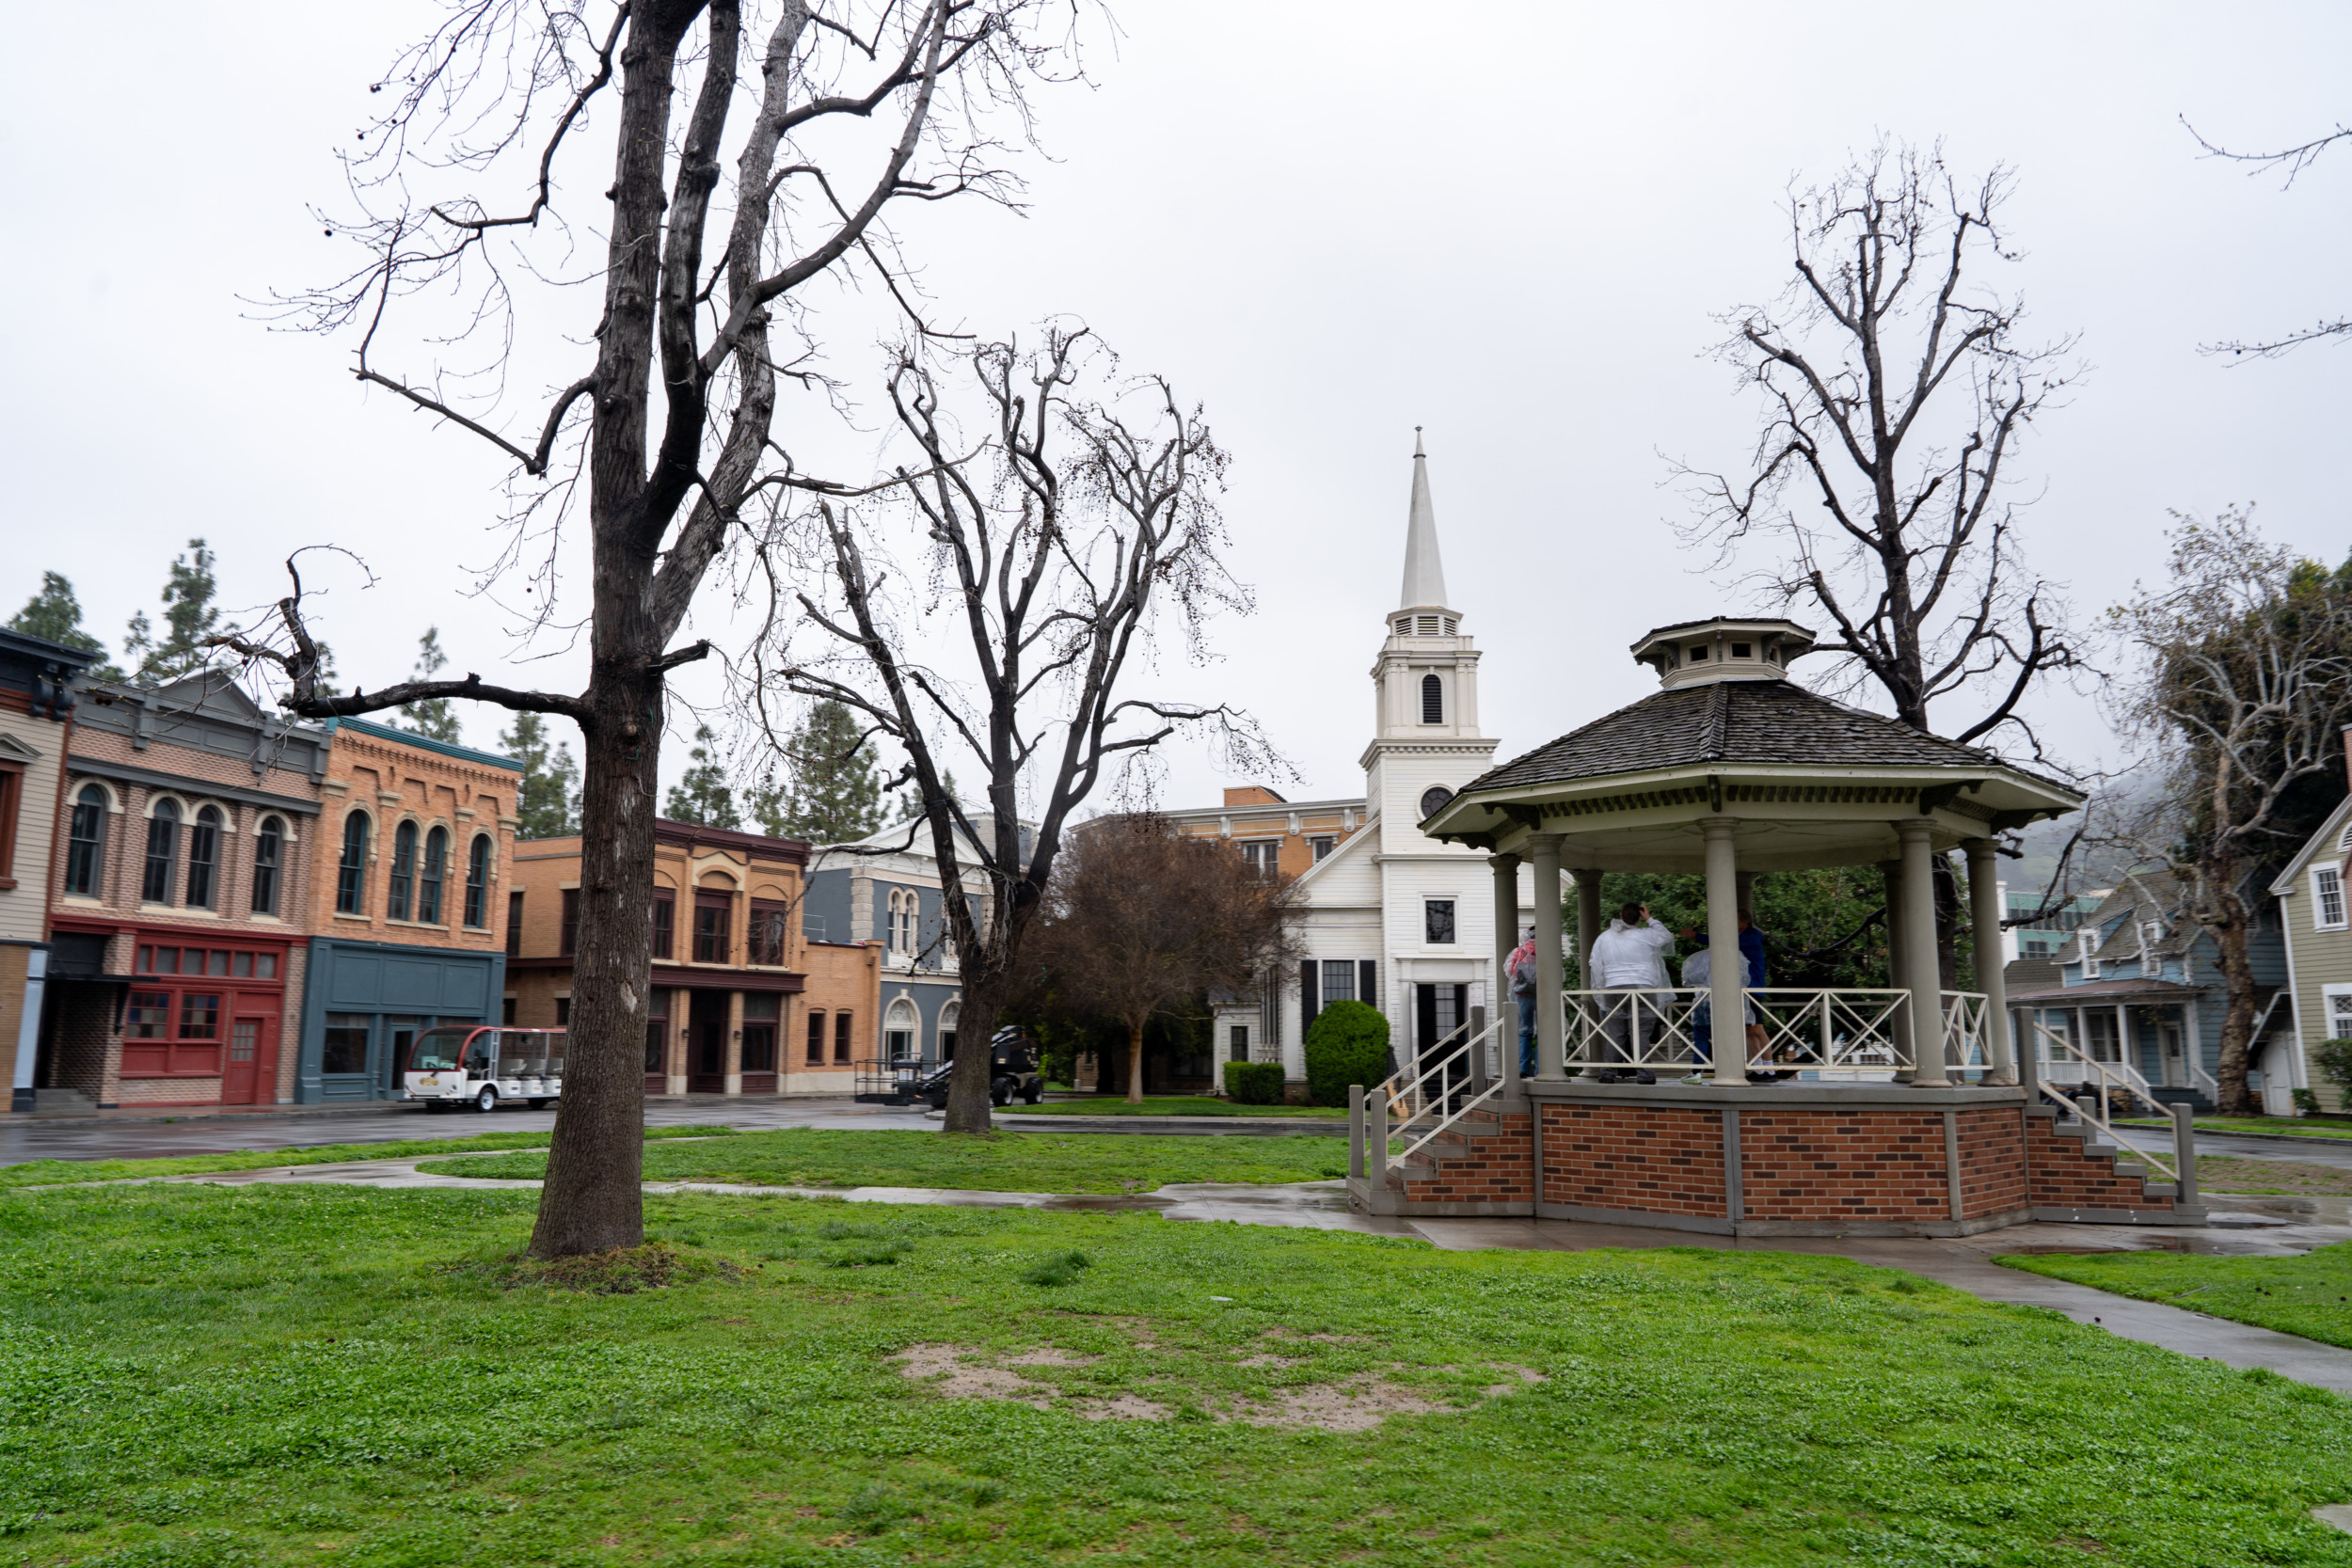
<svg viewBox="0 0 2352 1568">
<path fill-rule="evenodd" d="M 310 940 L 294 1100 L 388 1100 L 400 1056 L 435 1023 L 499 1023 L 503 952 Z"/>
</svg>

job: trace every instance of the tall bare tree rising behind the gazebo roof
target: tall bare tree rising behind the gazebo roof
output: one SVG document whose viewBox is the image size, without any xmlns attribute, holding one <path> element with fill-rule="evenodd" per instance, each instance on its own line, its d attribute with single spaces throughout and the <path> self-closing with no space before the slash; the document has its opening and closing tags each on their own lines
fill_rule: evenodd
<svg viewBox="0 0 2352 1568">
<path fill-rule="evenodd" d="M 1795 277 L 1778 301 L 1719 320 L 1717 357 L 1764 404 L 1745 475 L 1677 465 L 1698 498 L 1684 534 L 1729 559 L 1752 534 L 1783 562 L 1757 574 L 1776 607 L 1811 607 L 1849 686 L 1931 729 L 1938 698 L 1980 691 L 1955 741 L 2020 731 L 2034 682 L 2079 663 L 2065 604 L 2016 541 L 2004 468 L 2065 388 L 2072 339 L 2023 341 L 2025 308 L 1973 282 L 2009 261 L 2011 176 L 1964 190 L 1940 150 L 1879 146 L 1825 186 L 1790 193 Z"/>
</svg>

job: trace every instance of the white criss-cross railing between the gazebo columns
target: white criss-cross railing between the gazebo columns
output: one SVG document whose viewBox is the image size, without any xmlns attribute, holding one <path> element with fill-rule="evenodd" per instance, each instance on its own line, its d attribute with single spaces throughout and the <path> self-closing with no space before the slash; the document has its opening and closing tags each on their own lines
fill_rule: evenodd
<svg viewBox="0 0 2352 1568">
<path fill-rule="evenodd" d="M 1764 1046 L 1748 1060 L 1750 1072 L 1867 1081 L 1912 1067 L 1907 990 L 1764 985 L 1743 997 L 1764 1027 Z M 1562 992 L 1562 1001 L 1569 1072 L 1712 1072 L 1712 1041 L 1722 1034 L 1712 1034 L 1710 1053 L 1698 1051 L 1698 1009 L 1712 1001 L 1703 987 L 1571 990 Z M 1938 1023 L 1947 1072 L 1971 1077 L 1990 1065 L 1980 992 L 1943 992 Z M 1729 1027 L 1745 1032 L 1745 1020 L 1736 1018 Z"/>
</svg>

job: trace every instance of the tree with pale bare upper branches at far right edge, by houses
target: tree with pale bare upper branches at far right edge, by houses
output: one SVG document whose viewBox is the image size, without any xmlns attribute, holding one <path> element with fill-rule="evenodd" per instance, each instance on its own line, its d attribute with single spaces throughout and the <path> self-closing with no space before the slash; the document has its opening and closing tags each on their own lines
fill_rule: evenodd
<svg viewBox="0 0 2352 1568">
<path fill-rule="evenodd" d="M 2352 602 L 2326 571 L 2263 541 L 2239 510 L 2178 524 L 2171 581 L 2110 611 L 2145 661 L 2124 719 L 2169 780 L 2122 837 L 2173 872 L 2183 914 L 2213 933 L 2227 987 L 2220 1112 L 2251 1114 L 2253 884 L 2307 832 L 2284 820 L 2296 785 L 2343 757 Z"/>
</svg>

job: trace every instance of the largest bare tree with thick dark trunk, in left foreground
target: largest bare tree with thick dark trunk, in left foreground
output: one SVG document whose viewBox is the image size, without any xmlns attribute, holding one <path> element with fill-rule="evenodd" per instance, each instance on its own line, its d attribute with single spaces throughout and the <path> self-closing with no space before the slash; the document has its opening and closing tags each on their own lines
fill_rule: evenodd
<svg viewBox="0 0 2352 1568">
<path fill-rule="evenodd" d="M 1011 197 L 988 122 L 990 110 L 1023 120 L 1025 85 L 1056 59 L 1033 38 L 1042 14 L 1042 0 L 779 0 L 764 19 L 741 0 L 447 0 L 430 38 L 372 89 L 390 108 L 346 158 L 355 214 L 329 233 L 355 240 L 362 263 L 280 301 L 294 327 L 350 331 L 362 383 L 513 461 L 508 559 L 548 548 L 534 581 L 546 604 L 553 541 L 586 505 L 583 691 L 468 675 L 329 696 L 299 574 L 273 639 L 228 639 L 273 665 L 285 705 L 308 717 L 466 698 L 581 726 L 572 1067 L 539 1255 L 642 1241 L 637 1060 L 663 677 L 708 654 L 670 642 L 746 501 L 795 482 L 771 437 L 779 378 L 814 376 L 786 343 L 804 324 L 795 294 L 866 266 L 906 303 L 884 214 Z M 614 94 L 616 115 L 600 122 Z M 739 99 L 750 118 L 729 134 Z M 602 256 L 581 268 L 574 252 L 597 230 Z M 593 299 L 557 280 L 595 284 Z M 548 317 L 569 306 L 572 320 L 541 329 L 539 306 Z M 466 348 L 480 360 L 445 369 Z M 524 348 L 588 362 L 541 409 L 510 414 L 506 374 Z"/>
</svg>

